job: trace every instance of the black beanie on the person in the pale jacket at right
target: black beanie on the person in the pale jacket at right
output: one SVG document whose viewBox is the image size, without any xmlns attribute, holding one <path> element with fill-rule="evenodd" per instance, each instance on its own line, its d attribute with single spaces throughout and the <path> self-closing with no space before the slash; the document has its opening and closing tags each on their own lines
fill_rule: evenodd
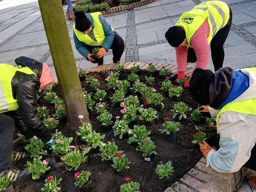
<svg viewBox="0 0 256 192">
<path fill-rule="evenodd" d="M 189 91 L 192 98 L 201 105 L 210 103 L 210 83 L 214 73 L 209 69 L 196 68 L 190 78 Z"/>
</svg>

